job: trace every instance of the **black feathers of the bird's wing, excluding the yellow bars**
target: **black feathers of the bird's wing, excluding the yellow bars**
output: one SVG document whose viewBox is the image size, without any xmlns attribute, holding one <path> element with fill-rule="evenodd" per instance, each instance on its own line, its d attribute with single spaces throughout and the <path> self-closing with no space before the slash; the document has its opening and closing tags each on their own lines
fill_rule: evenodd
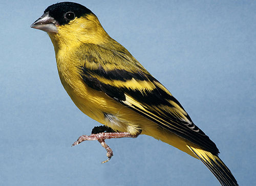
<svg viewBox="0 0 256 186">
<path fill-rule="evenodd" d="M 130 109 L 138 112 L 139 114 L 143 115 L 145 118 L 157 123 L 159 126 L 166 128 L 167 130 L 187 139 L 190 142 L 193 142 L 203 149 L 210 151 L 212 154 L 217 155 L 219 153 L 218 148 L 216 147 L 215 143 L 212 142 L 205 133 L 200 130 L 190 119 L 189 115 L 186 115 L 186 118 L 191 121 L 191 123 L 187 123 L 185 121 L 181 121 L 177 118 L 174 114 L 167 112 L 165 110 L 161 110 L 159 113 L 157 110 L 148 109 L 148 107 L 144 107 L 147 112 L 145 113 L 144 110 L 136 107 L 136 106 L 129 106 L 126 105 L 123 101 L 125 101 L 125 94 L 131 96 L 133 99 L 137 100 L 141 105 L 160 105 L 164 104 L 168 107 L 174 107 L 172 104 L 167 102 L 166 100 L 172 100 L 176 104 L 178 104 L 182 109 L 183 107 L 181 104 L 171 95 L 167 94 L 164 90 L 158 87 L 156 84 L 156 88 L 152 91 L 144 90 L 141 92 L 140 90 L 134 90 L 126 87 L 115 87 L 109 84 L 105 84 L 99 81 L 97 78 L 93 76 L 93 74 L 97 74 L 103 76 L 107 79 L 112 80 L 121 80 L 126 81 L 127 79 L 140 79 L 140 80 L 147 80 L 147 81 L 157 81 L 154 77 L 148 75 L 139 75 L 134 74 L 131 72 L 127 72 L 125 70 L 115 70 L 115 72 L 110 71 L 106 72 L 102 67 L 98 68 L 96 71 L 92 72 L 87 68 L 81 67 L 81 77 L 83 81 L 91 88 L 94 88 L 98 91 L 105 92 L 106 95 L 115 99 L 119 103 L 129 107 Z M 158 81 L 157 81 L 158 82 Z M 164 114 L 162 114 L 164 113 Z M 155 116 L 159 117 L 159 119 L 155 119 Z M 165 125 L 163 125 L 165 123 Z M 171 125 L 169 125 L 171 124 Z M 192 129 L 193 128 L 193 129 Z"/>
</svg>

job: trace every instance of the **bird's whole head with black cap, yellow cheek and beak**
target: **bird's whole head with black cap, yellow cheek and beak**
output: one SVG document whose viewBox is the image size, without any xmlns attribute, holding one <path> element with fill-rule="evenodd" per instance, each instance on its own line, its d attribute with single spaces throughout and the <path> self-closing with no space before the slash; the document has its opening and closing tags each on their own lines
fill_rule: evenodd
<svg viewBox="0 0 256 186">
<path fill-rule="evenodd" d="M 80 42 L 102 44 L 109 38 L 91 10 L 71 2 L 49 6 L 30 27 L 47 32 L 54 47 Z"/>
</svg>

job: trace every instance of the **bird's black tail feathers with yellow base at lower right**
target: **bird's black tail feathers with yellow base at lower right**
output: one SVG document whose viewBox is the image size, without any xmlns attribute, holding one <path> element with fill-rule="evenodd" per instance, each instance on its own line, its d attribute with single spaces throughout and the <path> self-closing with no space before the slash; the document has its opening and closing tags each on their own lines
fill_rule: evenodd
<svg viewBox="0 0 256 186">
<path fill-rule="evenodd" d="M 230 170 L 217 155 L 191 146 L 187 147 L 203 161 L 204 165 L 215 175 L 221 185 L 238 186 L 236 178 L 234 178 Z"/>
</svg>

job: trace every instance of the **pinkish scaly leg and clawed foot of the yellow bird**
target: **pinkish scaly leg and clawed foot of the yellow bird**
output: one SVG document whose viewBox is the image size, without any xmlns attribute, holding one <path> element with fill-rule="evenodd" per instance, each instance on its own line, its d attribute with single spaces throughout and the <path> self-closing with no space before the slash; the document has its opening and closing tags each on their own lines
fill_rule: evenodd
<svg viewBox="0 0 256 186">
<path fill-rule="evenodd" d="M 82 143 L 83 141 L 93 141 L 93 140 L 97 140 L 100 145 L 102 147 L 104 147 L 106 149 L 106 156 L 108 156 L 108 159 L 106 159 L 105 161 L 102 161 L 102 164 L 104 162 L 107 162 L 110 160 L 110 158 L 113 156 L 113 151 L 112 149 L 105 143 L 105 139 L 111 139 L 111 138 L 121 138 L 121 137 L 137 137 L 139 134 L 137 135 L 131 135 L 129 132 L 104 132 L 104 131 L 109 131 L 108 130 L 104 130 L 105 128 L 103 128 L 104 126 L 100 126 L 100 130 L 97 129 L 93 129 L 92 132 L 98 132 L 98 131 L 103 131 L 100 133 L 96 133 L 96 134 L 91 134 L 91 135 L 81 135 L 76 142 L 73 143 L 72 146 L 78 145 L 80 143 Z M 97 131 L 96 131 L 97 130 Z M 112 129 L 111 129 L 112 130 Z"/>
</svg>

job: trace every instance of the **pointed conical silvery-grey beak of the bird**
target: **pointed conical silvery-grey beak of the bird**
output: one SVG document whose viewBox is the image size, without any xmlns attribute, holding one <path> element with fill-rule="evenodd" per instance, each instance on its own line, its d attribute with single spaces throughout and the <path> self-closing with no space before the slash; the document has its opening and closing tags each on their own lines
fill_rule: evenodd
<svg viewBox="0 0 256 186">
<path fill-rule="evenodd" d="M 41 17 L 39 17 L 30 27 L 33 29 L 39 29 L 45 32 L 58 32 L 57 27 L 58 22 L 49 16 L 49 12 L 44 13 Z"/>
</svg>

